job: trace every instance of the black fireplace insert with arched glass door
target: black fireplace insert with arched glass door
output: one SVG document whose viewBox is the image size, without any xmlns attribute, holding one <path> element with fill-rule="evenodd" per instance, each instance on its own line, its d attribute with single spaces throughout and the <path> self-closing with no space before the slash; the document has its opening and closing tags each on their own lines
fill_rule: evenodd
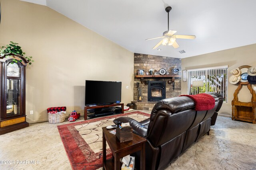
<svg viewBox="0 0 256 170">
<path fill-rule="evenodd" d="M 166 98 L 166 81 L 148 82 L 148 101 L 156 102 Z"/>
</svg>

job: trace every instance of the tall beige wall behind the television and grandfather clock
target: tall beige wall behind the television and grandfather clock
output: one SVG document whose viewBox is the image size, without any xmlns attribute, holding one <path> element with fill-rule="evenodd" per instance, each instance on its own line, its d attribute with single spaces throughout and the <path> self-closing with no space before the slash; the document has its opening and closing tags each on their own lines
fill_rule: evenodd
<svg viewBox="0 0 256 170">
<path fill-rule="evenodd" d="M 85 80 L 121 81 L 122 103 L 133 100 L 134 53 L 46 6 L 1 0 L 1 7 L 0 45 L 19 43 L 35 61 L 26 70 L 29 123 L 47 121 L 53 106 L 83 114 Z"/>
</svg>

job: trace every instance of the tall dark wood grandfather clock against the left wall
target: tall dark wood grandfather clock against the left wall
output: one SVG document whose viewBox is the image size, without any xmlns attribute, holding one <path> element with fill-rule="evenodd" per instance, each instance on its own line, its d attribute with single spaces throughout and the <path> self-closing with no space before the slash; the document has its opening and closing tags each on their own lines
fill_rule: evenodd
<svg viewBox="0 0 256 170">
<path fill-rule="evenodd" d="M 28 127 L 25 112 L 25 68 L 28 62 L 20 55 L 0 56 L 0 135 Z"/>
</svg>

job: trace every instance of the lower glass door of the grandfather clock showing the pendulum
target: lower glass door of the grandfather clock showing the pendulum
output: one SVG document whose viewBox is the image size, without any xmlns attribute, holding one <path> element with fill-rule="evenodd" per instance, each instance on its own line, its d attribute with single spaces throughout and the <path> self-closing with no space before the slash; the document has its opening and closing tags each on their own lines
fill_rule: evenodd
<svg viewBox="0 0 256 170">
<path fill-rule="evenodd" d="M 6 116 L 20 114 L 20 79 L 7 78 Z"/>
</svg>

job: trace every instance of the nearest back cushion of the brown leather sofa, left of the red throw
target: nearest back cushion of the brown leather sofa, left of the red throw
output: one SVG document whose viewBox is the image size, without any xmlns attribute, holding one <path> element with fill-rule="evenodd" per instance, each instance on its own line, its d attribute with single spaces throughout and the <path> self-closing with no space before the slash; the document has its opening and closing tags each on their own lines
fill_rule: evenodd
<svg viewBox="0 0 256 170">
<path fill-rule="evenodd" d="M 186 96 L 167 98 L 156 103 L 150 115 L 148 140 L 160 146 L 184 133 L 193 123 L 194 100 Z"/>
</svg>

